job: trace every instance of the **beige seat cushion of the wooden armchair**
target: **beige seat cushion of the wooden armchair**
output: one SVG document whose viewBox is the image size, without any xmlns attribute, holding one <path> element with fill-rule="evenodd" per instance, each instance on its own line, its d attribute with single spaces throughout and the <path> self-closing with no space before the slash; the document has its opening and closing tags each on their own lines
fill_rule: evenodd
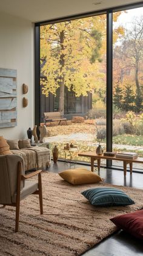
<svg viewBox="0 0 143 256">
<path fill-rule="evenodd" d="M 38 190 L 38 182 L 25 180 L 24 188 L 21 190 L 21 200 Z M 13 202 L 16 202 L 16 194 L 12 198 Z"/>
</svg>

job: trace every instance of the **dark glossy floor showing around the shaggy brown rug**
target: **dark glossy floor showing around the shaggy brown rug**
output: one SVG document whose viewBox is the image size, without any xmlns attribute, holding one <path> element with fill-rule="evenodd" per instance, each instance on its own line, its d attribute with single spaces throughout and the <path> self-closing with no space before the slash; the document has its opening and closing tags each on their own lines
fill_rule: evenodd
<svg viewBox="0 0 143 256">
<path fill-rule="evenodd" d="M 70 165 L 70 163 L 58 162 L 47 169 L 47 171 L 58 173 L 64 171 L 64 169 L 84 167 L 90 169 L 90 166 L 83 165 Z M 96 171 L 96 169 L 95 169 Z M 127 176 L 124 177 L 123 171 L 111 170 L 101 168 L 101 171 L 96 171 L 105 182 L 114 185 L 124 185 L 128 187 L 135 187 L 143 189 L 143 174 L 133 173 L 130 176 L 130 172 L 127 172 Z M 143 198 L 142 198 L 143 200 Z M 95 247 L 85 252 L 85 256 L 143 256 L 143 243 L 137 240 L 131 235 L 128 235 L 124 231 L 111 235 Z M 68 255 L 67 255 L 68 256 Z"/>
</svg>

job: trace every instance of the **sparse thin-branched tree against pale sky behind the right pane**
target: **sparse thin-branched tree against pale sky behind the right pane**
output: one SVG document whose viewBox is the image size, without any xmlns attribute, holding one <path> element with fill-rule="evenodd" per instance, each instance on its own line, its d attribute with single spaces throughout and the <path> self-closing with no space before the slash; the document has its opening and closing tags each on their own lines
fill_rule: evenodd
<svg viewBox="0 0 143 256">
<path fill-rule="evenodd" d="M 132 21 L 131 27 L 126 29 L 125 38 L 122 43 L 122 56 L 126 68 L 133 68 L 135 71 L 136 84 L 136 110 L 142 110 L 141 80 L 139 81 L 139 71 L 143 61 L 143 16 L 136 17 Z"/>
</svg>

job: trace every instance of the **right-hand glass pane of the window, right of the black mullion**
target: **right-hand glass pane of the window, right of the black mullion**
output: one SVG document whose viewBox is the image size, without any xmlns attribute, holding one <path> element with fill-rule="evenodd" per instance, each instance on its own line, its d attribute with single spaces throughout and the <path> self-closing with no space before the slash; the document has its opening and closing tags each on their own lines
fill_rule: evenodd
<svg viewBox="0 0 143 256">
<path fill-rule="evenodd" d="M 120 14 L 119 14 L 120 13 Z M 113 150 L 143 157 L 143 7 L 113 13 Z M 118 32 L 117 32 L 118 34 Z M 113 32 L 113 37 L 116 37 Z M 119 164 L 119 163 L 116 163 Z M 136 166 L 136 167 L 139 167 Z"/>
</svg>

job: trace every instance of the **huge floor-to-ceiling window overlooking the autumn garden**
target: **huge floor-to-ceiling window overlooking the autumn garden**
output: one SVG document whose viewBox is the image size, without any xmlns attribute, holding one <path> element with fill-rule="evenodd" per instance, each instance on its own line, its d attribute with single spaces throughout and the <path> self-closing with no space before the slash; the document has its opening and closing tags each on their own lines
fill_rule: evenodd
<svg viewBox="0 0 143 256">
<path fill-rule="evenodd" d="M 44 124 L 45 112 L 67 119 L 46 124 L 61 158 L 66 143 L 80 152 L 100 143 L 104 151 L 143 156 L 143 7 L 137 7 L 36 24 L 36 122 Z M 72 157 L 89 161 L 77 152 Z"/>
</svg>

